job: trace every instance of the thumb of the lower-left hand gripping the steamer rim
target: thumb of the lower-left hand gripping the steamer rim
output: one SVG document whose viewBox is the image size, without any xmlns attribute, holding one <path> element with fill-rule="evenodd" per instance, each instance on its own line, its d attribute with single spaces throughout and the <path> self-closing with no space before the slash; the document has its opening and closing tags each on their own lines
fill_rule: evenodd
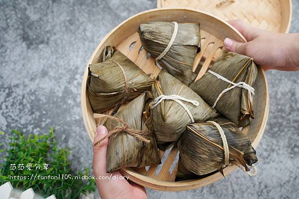
<svg viewBox="0 0 299 199">
<path fill-rule="evenodd" d="M 94 145 L 105 135 L 107 135 L 108 130 L 105 126 L 98 126 L 96 131 L 96 136 L 93 143 L 93 170 L 95 176 L 105 176 L 106 175 L 106 156 L 108 147 L 108 138 L 104 139 L 100 144 Z"/>
</svg>

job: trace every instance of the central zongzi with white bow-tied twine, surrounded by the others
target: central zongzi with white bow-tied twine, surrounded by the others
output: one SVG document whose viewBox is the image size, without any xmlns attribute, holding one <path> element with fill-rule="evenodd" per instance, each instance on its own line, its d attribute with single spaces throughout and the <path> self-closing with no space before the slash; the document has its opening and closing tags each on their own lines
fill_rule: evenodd
<svg viewBox="0 0 299 199">
<path fill-rule="evenodd" d="M 176 142 L 186 124 L 218 115 L 189 87 L 164 71 L 152 85 L 152 96 L 153 128 L 160 149 Z"/>
</svg>

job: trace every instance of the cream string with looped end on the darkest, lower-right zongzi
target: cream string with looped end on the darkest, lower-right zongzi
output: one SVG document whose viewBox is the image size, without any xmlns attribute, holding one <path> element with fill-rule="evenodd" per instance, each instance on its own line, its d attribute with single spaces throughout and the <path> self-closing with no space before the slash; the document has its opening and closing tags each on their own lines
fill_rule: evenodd
<svg viewBox="0 0 299 199">
<path fill-rule="evenodd" d="M 218 130 L 218 132 L 219 132 L 219 134 L 221 136 L 222 143 L 223 143 L 223 150 L 224 150 L 224 165 L 223 165 L 223 168 L 225 168 L 226 166 L 230 165 L 230 163 L 229 163 L 229 148 L 228 148 L 226 136 L 224 134 L 223 129 L 221 128 L 221 126 L 217 122 L 215 122 L 215 121 L 207 121 L 207 123 L 213 124 L 217 128 L 217 130 Z M 237 167 L 239 167 L 241 170 L 243 170 L 244 172 L 246 172 L 246 174 L 248 176 L 250 176 L 250 177 L 256 176 L 258 174 L 258 170 L 257 170 L 257 168 L 254 165 L 252 165 L 252 168 L 253 168 L 253 172 L 252 173 L 249 172 L 249 171 L 246 171 L 245 168 L 243 166 L 241 166 L 241 165 L 237 165 Z"/>
</svg>

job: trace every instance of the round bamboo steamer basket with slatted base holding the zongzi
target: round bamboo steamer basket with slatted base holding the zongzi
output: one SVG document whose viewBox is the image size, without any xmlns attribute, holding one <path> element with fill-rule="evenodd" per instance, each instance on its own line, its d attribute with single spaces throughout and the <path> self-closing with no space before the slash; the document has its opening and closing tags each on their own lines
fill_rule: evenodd
<svg viewBox="0 0 299 199">
<path fill-rule="evenodd" d="M 148 56 L 148 53 L 142 48 L 137 32 L 139 24 L 148 23 L 150 21 L 177 21 L 179 23 L 200 22 L 202 36 L 201 52 L 197 54 L 193 66 L 194 71 L 199 71 L 197 79 L 208 70 L 210 64 L 213 63 L 217 57 L 225 52 L 225 48 L 223 47 L 225 37 L 230 37 L 240 42 L 246 41 L 245 38 L 226 21 L 195 9 L 152 9 L 138 13 L 125 20 L 108 33 L 97 46 L 90 57 L 83 76 L 81 88 L 82 116 L 88 136 L 92 142 L 95 136 L 96 121 L 93 118 L 93 111 L 86 93 L 88 65 L 98 63 L 103 48 L 107 45 L 111 45 L 128 56 L 137 66 L 154 79 L 158 75 L 159 69 L 155 66 L 154 59 Z M 268 85 L 265 72 L 261 67 L 258 68 L 258 77 L 254 88 L 255 96 L 253 103 L 255 119 L 252 120 L 250 126 L 243 128 L 242 132 L 252 141 L 253 147 L 257 147 L 262 138 L 269 111 Z M 131 181 L 139 185 L 161 191 L 189 190 L 203 187 L 223 179 L 222 175 L 218 172 L 201 180 L 174 182 L 177 172 L 177 158 L 175 159 L 177 154 L 178 149 L 176 146 L 172 147 L 169 153 L 164 153 L 159 150 L 160 158 L 164 160 L 161 166 L 153 165 L 147 168 L 125 168 L 121 170 L 121 173 L 125 176 L 129 176 Z M 175 165 L 172 171 L 170 170 L 171 165 Z M 224 174 L 228 175 L 236 168 L 236 166 L 226 167 Z"/>
</svg>

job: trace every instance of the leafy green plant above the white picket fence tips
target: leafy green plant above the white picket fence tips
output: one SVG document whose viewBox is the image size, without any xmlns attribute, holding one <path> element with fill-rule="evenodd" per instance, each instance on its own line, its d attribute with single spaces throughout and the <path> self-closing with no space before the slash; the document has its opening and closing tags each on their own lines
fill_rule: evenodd
<svg viewBox="0 0 299 199">
<path fill-rule="evenodd" d="M 9 181 L 13 187 L 22 186 L 24 190 L 39 190 L 45 198 L 54 194 L 57 199 L 77 199 L 81 193 L 95 191 L 95 180 L 82 180 L 88 176 L 88 169 L 73 175 L 68 160 L 70 149 L 57 147 L 54 131 L 50 128 L 48 135 L 25 137 L 18 130 L 12 130 L 7 136 L 8 149 L 0 150 L 6 152 L 0 158 L 3 162 L 1 182 Z M 23 164 L 23 170 L 19 170 L 19 164 Z M 27 168 L 30 164 L 31 170 Z M 44 164 L 48 164 L 47 169 Z M 36 165 L 40 166 L 39 170 L 35 169 Z"/>
</svg>

